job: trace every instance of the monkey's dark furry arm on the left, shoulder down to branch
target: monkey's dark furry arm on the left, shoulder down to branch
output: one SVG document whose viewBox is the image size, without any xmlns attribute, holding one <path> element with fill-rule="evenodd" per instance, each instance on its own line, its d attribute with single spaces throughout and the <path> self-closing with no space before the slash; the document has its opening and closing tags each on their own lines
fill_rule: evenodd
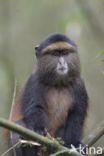
<svg viewBox="0 0 104 156">
<path fill-rule="evenodd" d="M 48 116 L 44 98 L 45 87 L 32 75 L 26 84 L 22 97 L 22 112 L 26 126 L 45 135 Z"/>
</svg>

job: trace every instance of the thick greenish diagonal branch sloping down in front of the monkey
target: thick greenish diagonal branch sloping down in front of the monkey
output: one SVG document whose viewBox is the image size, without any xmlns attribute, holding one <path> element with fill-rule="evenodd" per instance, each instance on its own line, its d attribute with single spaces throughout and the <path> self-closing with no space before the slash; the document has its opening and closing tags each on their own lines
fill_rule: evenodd
<svg viewBox="0 0 104 156">
<path fill-rule="evenodd" d="M 49 139 L 47 137 L 44 137 L 42 135 L 39 135 L 27 128 L 24 128 L 18 124 L 15 124 L 11 121 L 5 120 L 3 118 L 0 118 L 0 126 L 7 128 L 13 132 L 16 132 L 20 135 L 22 135 L 26 139 L 30 139 L 32 141 L 37 141 L 38 143 L 45 145 L 48 149 L 51 148 L 51 150 L 54 152 L 58 151 L 65 151 L 63 156 L 81 156 L 80 153 L 78 153 L 75 149 L 68 149 L 62 145 L 59 144 L 58 141 L 56 141 L 54 138 Z M 57 154 L 57 156 L 61 156 L 61 154 Z"/>
</svg>

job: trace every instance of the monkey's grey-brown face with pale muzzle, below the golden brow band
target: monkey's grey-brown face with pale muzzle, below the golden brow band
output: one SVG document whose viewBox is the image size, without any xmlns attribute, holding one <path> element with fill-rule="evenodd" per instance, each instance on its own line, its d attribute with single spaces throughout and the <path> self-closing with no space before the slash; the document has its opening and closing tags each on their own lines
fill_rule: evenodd
<svg viewBox="0 0 104 156">
<path fill-rule="evenodd" d="M 47 52 L 38 59 L 39 77 L 47 82 L 67 82 L 80 73 L 80 61 L 76 51 L 61 49 Z"/>
</svg>

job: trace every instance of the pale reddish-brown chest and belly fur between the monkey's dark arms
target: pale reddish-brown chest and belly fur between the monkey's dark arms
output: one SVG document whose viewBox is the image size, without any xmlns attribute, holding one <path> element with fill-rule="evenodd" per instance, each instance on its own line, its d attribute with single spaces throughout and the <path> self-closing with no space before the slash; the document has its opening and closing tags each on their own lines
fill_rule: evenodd
<svg viewBox="0 0 104 156">
<path fill-rule="evenodd" d="M 57 131 L 65 124 L 72 107 L 72 96 L 68 89 L 51 89 L 47 95 L 49 124 L 48 131 L 55 137 Z"/>
</svg>

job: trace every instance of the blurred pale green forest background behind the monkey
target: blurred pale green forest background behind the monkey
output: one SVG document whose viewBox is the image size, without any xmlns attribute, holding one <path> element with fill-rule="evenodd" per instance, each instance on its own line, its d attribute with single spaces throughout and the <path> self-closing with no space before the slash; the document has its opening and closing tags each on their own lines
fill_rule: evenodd
<svg viewBox="0 0 104 156">
<path fill-rule="evenodd" d="M 0 0 L 0 116 L 9 117 L 15 78 L 20 90 L 35 68 L 35 45 L 54 32 L 79 46 L 90 97 L 87 136 L 104 119 L 104 0 Z"/>
</svg>

